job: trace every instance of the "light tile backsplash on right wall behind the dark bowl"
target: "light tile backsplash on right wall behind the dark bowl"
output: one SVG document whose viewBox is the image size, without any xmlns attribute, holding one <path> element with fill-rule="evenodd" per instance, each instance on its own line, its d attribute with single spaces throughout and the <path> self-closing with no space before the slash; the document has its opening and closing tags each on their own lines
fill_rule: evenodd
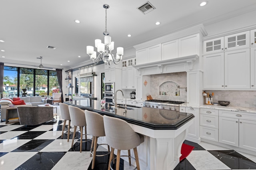
<svg viewBox="0 0 256 170">
<path fill-rule="evenodd" d="M 215 96 L 213 96 L 213 103 L 218 103 L 218 101 L 230 101 L 228 106 L 256 109 L 256 91 L 206 90 L 206 93 L 212 94 L 212 92 Z"/>
</svg>

